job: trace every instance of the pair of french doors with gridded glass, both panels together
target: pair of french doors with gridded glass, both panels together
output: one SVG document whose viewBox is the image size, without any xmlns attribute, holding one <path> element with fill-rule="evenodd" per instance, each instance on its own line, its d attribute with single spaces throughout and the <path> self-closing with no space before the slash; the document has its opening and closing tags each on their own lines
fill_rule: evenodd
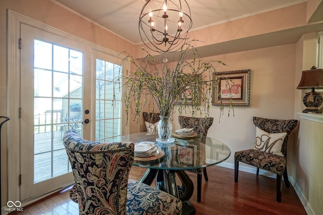
<svg viewBox="0 0 323 215">
<path fill-rule="evenodd" d="M 116 79 L 120 58 L 50 27 L 19 26 L 20 201 L 32 202 L 74 183 L 62 140 L 67 129 L 119 141 L 129 127 Z"/>
</svg>

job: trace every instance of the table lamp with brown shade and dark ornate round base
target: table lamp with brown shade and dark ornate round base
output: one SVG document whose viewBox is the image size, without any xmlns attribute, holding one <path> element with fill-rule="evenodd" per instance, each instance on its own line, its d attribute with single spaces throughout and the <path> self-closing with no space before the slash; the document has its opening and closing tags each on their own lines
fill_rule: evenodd
<svg viewBox="0 0 323 215">
<path fill-rule="evenodd" d="M 323 69 L 316 69 L 312 66 L 310 70 L 302 71 L 302 78 L 296 89 L 311 89 L 311 92 L 306 93 L 303 98 L 303 104 L 306 109 L 303 113 L 322 113 L 318 107 L 322 104 L 322 96 L 315 92 L 316 89 L 323 89 Z"/>
</svg>

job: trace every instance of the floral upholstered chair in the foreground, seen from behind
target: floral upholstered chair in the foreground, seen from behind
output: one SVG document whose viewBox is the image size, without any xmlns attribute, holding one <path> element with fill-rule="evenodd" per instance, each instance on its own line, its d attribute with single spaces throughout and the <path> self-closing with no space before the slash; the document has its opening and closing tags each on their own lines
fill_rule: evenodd
<svg viewBox="0 0 323 215">
<path fill-rule="evenodd" d="M 132 142 L 91 142 L 74 130 L 63 137 L 70 160 L 80 214 L 182 214 L 178 198 L 128 179 Z"/>
</svg>

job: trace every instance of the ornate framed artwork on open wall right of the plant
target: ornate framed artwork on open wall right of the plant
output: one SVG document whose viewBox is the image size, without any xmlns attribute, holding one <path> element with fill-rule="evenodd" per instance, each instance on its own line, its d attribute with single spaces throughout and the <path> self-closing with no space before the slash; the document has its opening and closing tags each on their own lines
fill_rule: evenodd
<svg viewBox="0 0 323 215">
<path fill-rule="evenodd" d="M 212 105 L 250 106 L 251 69 L 213 73 Z"/>
</svg>

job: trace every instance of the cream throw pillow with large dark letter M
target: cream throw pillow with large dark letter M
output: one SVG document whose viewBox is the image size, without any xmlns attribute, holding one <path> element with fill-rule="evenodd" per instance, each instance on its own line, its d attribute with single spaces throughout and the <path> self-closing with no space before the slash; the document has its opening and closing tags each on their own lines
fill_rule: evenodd
<svg viewBox="0 0 323 215">
<path fill-rule="evenodd" d="M 281 152 L 282 145 L 287 133 L 267 133 L 256 127 L 256 141 L 253 149 L 279 156 L 284 156 Z"/>
</svg>

